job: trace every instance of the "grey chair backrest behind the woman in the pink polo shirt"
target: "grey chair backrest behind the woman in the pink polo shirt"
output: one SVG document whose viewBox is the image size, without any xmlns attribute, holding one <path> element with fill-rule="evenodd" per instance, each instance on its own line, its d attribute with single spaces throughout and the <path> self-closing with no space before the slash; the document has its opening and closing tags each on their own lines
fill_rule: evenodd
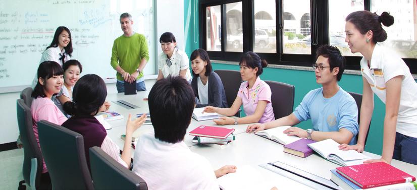
<svg viewBox="0 0 417 190">
<path fill-rule="evenodd" d="M 295 87 L 277 81 L 265 81 L 271 88 L 271 103 L 275 119 L 292 113 L 294 108 Z"/>
</svg>

